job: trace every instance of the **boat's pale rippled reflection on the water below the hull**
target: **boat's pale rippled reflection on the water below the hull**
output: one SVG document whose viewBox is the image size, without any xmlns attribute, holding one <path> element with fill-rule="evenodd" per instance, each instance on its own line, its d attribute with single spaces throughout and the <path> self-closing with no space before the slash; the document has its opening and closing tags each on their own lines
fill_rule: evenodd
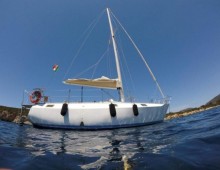
<svg viewBox="0 0 220 170">
<path fill-rule="evenodd" d="M 31 152 L 36 168 L 42 160 L 54 168 L 129 168 L 135 165 L 135 154 L 159 152 L 157 143 L 148 143 L 152 141 L 143 127 L 103 131 L 26 128 L 21 132 L 17 141 Z"/>
</svg>

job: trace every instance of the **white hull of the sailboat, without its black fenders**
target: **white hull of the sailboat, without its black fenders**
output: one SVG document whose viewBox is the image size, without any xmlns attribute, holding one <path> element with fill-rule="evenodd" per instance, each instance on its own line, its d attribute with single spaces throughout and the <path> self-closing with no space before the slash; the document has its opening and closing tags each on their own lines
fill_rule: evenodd
<svg viewBox="0 0 220 170">
<path fill-rule="evenodd" d="M 135 103 L 138 115 L 133 110 L 134 103 L 114 102 L 116 116 L 111 115 L 110 102 L 68 103 L 66 114 L 61 115 L 63 103 L 34 105 L 29 119 L 34 126 L 64 129 L 113 129 L 143 126 L 162 122 L 168 104 Z"/>
</svg>

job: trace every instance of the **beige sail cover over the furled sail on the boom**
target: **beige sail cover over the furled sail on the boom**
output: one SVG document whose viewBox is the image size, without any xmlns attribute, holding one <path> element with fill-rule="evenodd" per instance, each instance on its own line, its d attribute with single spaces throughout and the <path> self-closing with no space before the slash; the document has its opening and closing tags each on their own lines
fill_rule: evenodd
<svg viewBox="0 0 220 170">
<path fill-rule="evenodd" d="M 109 79 L 105 76 L 97 79 L 67 79 L 63 83 L 107 89 L 117 89 L 121 87 L 121 83 L 118 81 L 118 79 Z"/>
</svg>

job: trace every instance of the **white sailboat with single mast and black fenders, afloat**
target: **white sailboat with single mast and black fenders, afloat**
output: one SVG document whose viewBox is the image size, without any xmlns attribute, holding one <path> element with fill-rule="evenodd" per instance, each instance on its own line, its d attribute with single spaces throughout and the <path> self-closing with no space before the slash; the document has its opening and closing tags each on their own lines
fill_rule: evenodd
<svg viewBox="0 0 220 170">
<path fill-rule="evenodd" d="M 164 116 L 169 107 L 169 102 L 167 100 L 160 103 L 125 101 L 117 44 L 112 26 L 112 12 L 109 8 L 107 8 L 106 11 L 115 55 L 117 78 L 110 79 L 102 76 L 97 79 L 67 79 L 63 83 L 101 89 L 115 89 L 119 92 L 119 101 L 109 100 L 75 103 L 51 103 L 45 101 L 42 104 L 39 103 L 42 98 L 41 90 L 37 89 L 31 93 L 30 99 L 34 105 L 30 108 L 28 114 L 29 120 L 34 126 L 43 128 L 99 130 L 143 126 L 159 123 L 164 120 Z M 122 28 L 124 29 L 124 27 Z M 131 39 L 130 36 L 129 39 Z M 143 55 L 133 41 L 132 43 L 141 55 L 142 60 L 164 97 L 163 92 Z"/>
</svg>

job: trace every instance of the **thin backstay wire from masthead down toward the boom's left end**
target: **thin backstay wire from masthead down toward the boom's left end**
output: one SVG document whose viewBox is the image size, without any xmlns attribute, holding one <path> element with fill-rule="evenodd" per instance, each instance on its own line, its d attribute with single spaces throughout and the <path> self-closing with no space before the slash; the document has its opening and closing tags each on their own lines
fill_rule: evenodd
<svg viewBox="0 0 220 170">
<path fill-rule="evenodd" d="M 99 20 L 101 19 L 101 17 L 103 16 L 105 11 L 103 11 L 99 16 L 98 18 L 94 19 L 92 21 L 92 23 L 88 26 L 88 28 L 84 31 L 84 34 L 86 34 L 88 32 L 88 34 L 85 36 L 85 39 L 83 40 L 81 46 L 79 47 L 79 49 L 77 50 L 76 54 L 74 55 L 71 63 L 70 63 L 70 66 L 68 67 L 63 79 L 66 78 L 67 74 L 70 72 L 70 69 L 72 68 L 72 65 L 74 63 L 74 61 L 76 60 L 76 58 L 78 57 L 79 53 L 81 52 L 82 48 L 84 47 L 86 41 L 88 40 L 91 32 L 93 31 L 93 29 L 95 28 L 95 26 L 97 25 L 97 23 L 99 22 Z M 91 28 L 91 29 L 90 29 Z M 82 37 L 82 36 L 81 36 Z"/>
</svg>

